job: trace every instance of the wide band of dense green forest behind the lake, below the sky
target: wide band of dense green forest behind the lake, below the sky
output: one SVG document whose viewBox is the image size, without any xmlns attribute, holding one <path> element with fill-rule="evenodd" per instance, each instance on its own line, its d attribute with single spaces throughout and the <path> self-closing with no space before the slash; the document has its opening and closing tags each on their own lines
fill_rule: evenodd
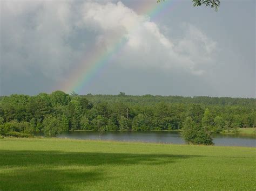
<svg viewBox="0 0 256 191">
<path fill-rule="evenodd" d="M 256 125 L 256 99 L 231 97 L 77 95 L 54 91 L 0 97 L 0 135 L 47 137 L 63 131 L 179 130 L 208 132 Z"/>
</svg>

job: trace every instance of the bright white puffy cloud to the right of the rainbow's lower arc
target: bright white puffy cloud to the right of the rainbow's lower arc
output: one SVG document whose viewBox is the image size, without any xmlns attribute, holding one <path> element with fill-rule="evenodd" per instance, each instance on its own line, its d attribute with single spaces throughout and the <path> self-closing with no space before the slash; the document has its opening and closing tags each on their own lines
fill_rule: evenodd
<svg viewBox="0 0 256 191">
<path fill-rule="evenodd" d="M 160 69 L 178 67 L 200 75 L 204 73 L 201 65 L 212 61 L 216 48 L 213 40 L 190 24 L 183 25 L 183 38 L 168 38 L 149 17 L 138 15 L 121 2 L 85 3 L 82 15 L 84 25 L 100 32 L 103 44 L 113 44 L 116 40 L 109 34 L 127 38 L 127 44 L 119 58 L 119 62 L 126 66 Z"/>
</svg>

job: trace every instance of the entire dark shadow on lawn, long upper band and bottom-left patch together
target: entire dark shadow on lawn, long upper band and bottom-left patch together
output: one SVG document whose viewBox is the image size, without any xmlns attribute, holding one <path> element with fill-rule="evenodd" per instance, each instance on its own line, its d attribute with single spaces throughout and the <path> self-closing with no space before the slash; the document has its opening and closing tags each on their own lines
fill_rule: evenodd
<svg viewBox="0 0 256 191">
<path fill-rule="evenodd" d="M 193 157 L 198 156 L 0 150 L 0 190 L 60 190 L 93 185 L 107 178 L 107 165 L 163 165 Z"/>
</svg>

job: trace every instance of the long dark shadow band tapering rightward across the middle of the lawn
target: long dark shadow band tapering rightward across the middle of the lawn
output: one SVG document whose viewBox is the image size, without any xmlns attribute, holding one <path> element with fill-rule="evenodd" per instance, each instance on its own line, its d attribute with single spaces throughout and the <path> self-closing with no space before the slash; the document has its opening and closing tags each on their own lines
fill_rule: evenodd
<svg viewBox="0 0 256 191">
<path fill-rule="evenodd" d="M 174 154 L 132 154 L 102 152 L 60 152 L 60 151 L 6 151 L 0 150 L 1 166 L 28 165 L 160 165 L 197 155 Z"/>
</svg>

